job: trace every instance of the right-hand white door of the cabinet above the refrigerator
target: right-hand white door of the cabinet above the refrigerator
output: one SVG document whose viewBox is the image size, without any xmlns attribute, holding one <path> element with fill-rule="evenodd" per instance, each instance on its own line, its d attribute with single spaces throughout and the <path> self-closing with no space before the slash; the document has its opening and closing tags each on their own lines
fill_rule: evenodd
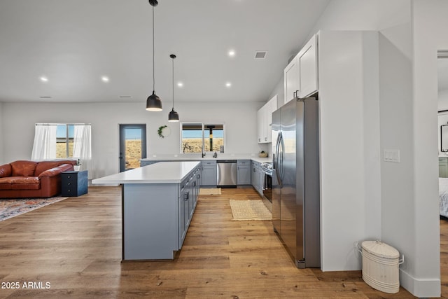
<svg viewBox="0 0 448 299">
<path fill-rule="evenodd" d="M 317 89 L 317 46 L 314 35 L 297 55 L 300 91 L 298 97 L 307 97 Z"/>
</svg>

